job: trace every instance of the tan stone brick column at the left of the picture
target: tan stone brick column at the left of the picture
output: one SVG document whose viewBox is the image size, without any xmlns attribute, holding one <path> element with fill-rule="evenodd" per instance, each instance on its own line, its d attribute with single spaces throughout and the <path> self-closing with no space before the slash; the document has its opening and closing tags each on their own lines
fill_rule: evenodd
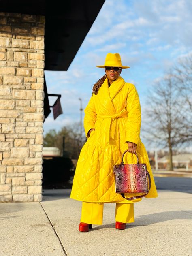
<svg viewBox="0 0 192 256">
<path fill-rule="evenodd" d="M 0 202 L 42 199 L 44 27 L 0 13 Z"/>
</svg>

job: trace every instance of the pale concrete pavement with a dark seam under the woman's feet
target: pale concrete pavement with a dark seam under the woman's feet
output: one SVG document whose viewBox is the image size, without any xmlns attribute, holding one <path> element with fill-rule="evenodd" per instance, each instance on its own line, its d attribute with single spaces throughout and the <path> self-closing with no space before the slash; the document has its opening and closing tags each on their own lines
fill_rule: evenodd
<svg viewBox="0 0 192 256">
<path fill-rule="evenodd" d="M 135 222 L 115 230 L 115 204 L 103 225 L 78 231 L 81 202 L 70 190 L 44 190 L 41 203 L 0 205 L 0 256 L 190 256 L 192 194 L 158 191 L 134 204 Z"/>
</svg>

